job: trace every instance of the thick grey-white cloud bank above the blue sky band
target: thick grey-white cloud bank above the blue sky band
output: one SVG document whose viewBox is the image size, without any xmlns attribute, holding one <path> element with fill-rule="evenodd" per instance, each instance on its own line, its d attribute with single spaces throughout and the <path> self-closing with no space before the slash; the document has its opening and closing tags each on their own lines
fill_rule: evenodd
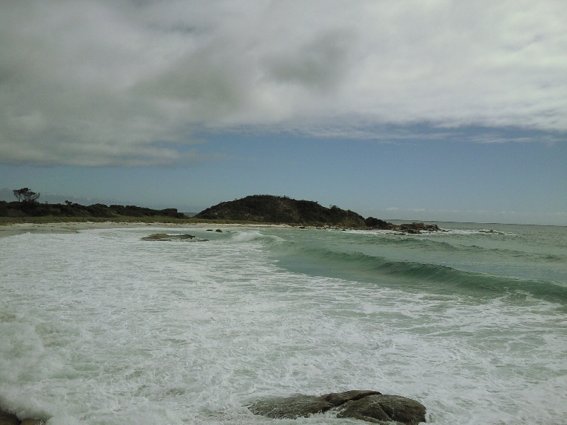
<svg viewBox="0 0 567 425">
<path fill-rule="evenodd" d="M 21 0 L 0 16 L 5 163 L 186 162 L 163 142 L 195 128 L 567 131 L 560 0 Z"/>
</svg>

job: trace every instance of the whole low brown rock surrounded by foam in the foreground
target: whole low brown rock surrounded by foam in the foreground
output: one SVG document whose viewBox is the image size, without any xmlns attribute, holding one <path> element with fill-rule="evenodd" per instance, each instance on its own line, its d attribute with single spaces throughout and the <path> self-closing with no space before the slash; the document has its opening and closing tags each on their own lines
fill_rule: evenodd
<svg viewBox="0 0 567 425">
<path fill-rule="evenodd" d="M 248 408 L 253 414 L 273 419 L 297 419 L 334 409 L 339 418 L 361 419 L 374 424 L 417 425 L 425 422 L 425 407 L 419 402 L 368 390 L 332 392 L 319 397 L 302 394 L 271 397 L 258 400 Z"/>
</svg>

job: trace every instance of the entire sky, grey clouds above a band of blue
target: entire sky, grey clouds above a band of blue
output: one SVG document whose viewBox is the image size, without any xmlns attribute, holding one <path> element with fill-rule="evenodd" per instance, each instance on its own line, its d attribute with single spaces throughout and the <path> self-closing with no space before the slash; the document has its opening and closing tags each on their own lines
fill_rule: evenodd
<svg viewBox="0 0 567 425">
<path fill-rule="evenodd" d="M 564 0 L 5 0 L 0 198 L 567 225 L 566 22 Z"/>
</svg>

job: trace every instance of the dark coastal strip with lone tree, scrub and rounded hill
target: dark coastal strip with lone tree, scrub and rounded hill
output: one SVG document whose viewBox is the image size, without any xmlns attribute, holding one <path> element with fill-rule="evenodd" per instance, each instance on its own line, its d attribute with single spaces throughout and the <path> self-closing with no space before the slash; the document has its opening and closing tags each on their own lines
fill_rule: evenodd
<svg viewBox="0 0 567 425">
<path fill-rule="evenodd" d="M 35 193 L 28 188 L 14 191 Z M 17 196 L 17 195 L 16 195 Z M 39 195 L 38 195 L 39 196 Z M 239 224 L 239 225 L 292 225 L 350 229 L 388 229 L 406 233 L 422 230 L 437 231 L 437 225 L 410 223 L 393 225 L 374 217 L 364 218 L 357 212 L 342 210 L 336 205 L 329 208 L 312 200 L 296 200 L 287 196 L 252 195 L 213 205 L 193 217 L 178 212 L 176 208 L 152 210 L 136 205 L 80 205 L 65 201 L 64 204 L 39 203 L 37 198 L 18 201 L 0 201 L 0 225 L 16 223 L 57 222 L 145 222 L 171 224 Z"/>
</svg>

